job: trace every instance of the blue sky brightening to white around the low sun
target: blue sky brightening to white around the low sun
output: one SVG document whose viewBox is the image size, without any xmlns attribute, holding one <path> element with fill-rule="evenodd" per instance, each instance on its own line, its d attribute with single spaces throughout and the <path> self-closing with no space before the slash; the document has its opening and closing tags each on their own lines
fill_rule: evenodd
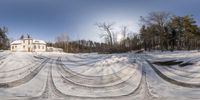
<svg viewBox="0 0 200 100">
<path fill-rule="evenodd" d="M 12 39 L 29 33 L 54 41 L 67 33 L 71 40 L 101 41 L 97 22 L 114 22 L 115 30 L 128 26 L 137 33 L 140 16 L 166 11 L 193 15 L 199 24 L 199 5 L 199 0 L 0 0 L 0 26 L 8 27 Z"/>
</svg>

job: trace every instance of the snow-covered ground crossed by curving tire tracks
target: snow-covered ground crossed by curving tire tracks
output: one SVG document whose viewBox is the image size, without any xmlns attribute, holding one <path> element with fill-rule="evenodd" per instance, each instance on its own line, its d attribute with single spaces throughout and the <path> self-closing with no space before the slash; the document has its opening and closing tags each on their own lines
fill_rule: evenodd
<svg viewBox="0 0 200 100">
<path fill-rule="evenodd" d="M 200 52 L 0 52 L 0 98 L 200 100 Z"/>
</svg>

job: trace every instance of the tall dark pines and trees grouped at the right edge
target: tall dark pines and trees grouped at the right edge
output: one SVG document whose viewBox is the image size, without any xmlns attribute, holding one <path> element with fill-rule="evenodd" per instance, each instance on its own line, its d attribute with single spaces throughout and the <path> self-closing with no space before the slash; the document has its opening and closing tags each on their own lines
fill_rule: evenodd
<svg viewBox="0 0 200 100">
<path fill-rule="evenodd" d="M 191 50 L 200 47 L 200 28 L 192 16 L 153 12 L 141 17 L 141 45 L 145 50 Z"/>
</svg>

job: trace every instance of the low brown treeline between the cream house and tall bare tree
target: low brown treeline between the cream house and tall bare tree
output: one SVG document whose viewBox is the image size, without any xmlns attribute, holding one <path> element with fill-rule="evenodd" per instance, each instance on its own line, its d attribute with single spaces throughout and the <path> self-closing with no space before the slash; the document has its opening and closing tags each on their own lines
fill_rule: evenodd
<svg viewBox="0 0 200 100">
<path fill-rule="evenodd" d="M 90 53 L 90 52 L 106 52 L 108 47 L 105 43 L 94 42 L 91 40 L 75 40 L 70 41 L 67 34 L 61 34 L 56 37 L 55 43 L 47 43 L 48 46 L 62 48 L 64 52 L 70 53 Z"/>
</svg>

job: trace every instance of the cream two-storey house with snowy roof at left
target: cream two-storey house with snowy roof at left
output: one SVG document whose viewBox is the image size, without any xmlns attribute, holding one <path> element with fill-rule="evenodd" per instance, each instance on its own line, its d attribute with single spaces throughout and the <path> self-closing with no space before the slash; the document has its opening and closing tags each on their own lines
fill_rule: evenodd
<svg viewBox="0 0 200 100">
<path fill-rule="evenodd" d="M 10 44 L 11 51 L 17 52 L 45 52 L 46 42 L 43 40 L 32 39 L 29 35 L 15 40 Z"/>
</svg>

